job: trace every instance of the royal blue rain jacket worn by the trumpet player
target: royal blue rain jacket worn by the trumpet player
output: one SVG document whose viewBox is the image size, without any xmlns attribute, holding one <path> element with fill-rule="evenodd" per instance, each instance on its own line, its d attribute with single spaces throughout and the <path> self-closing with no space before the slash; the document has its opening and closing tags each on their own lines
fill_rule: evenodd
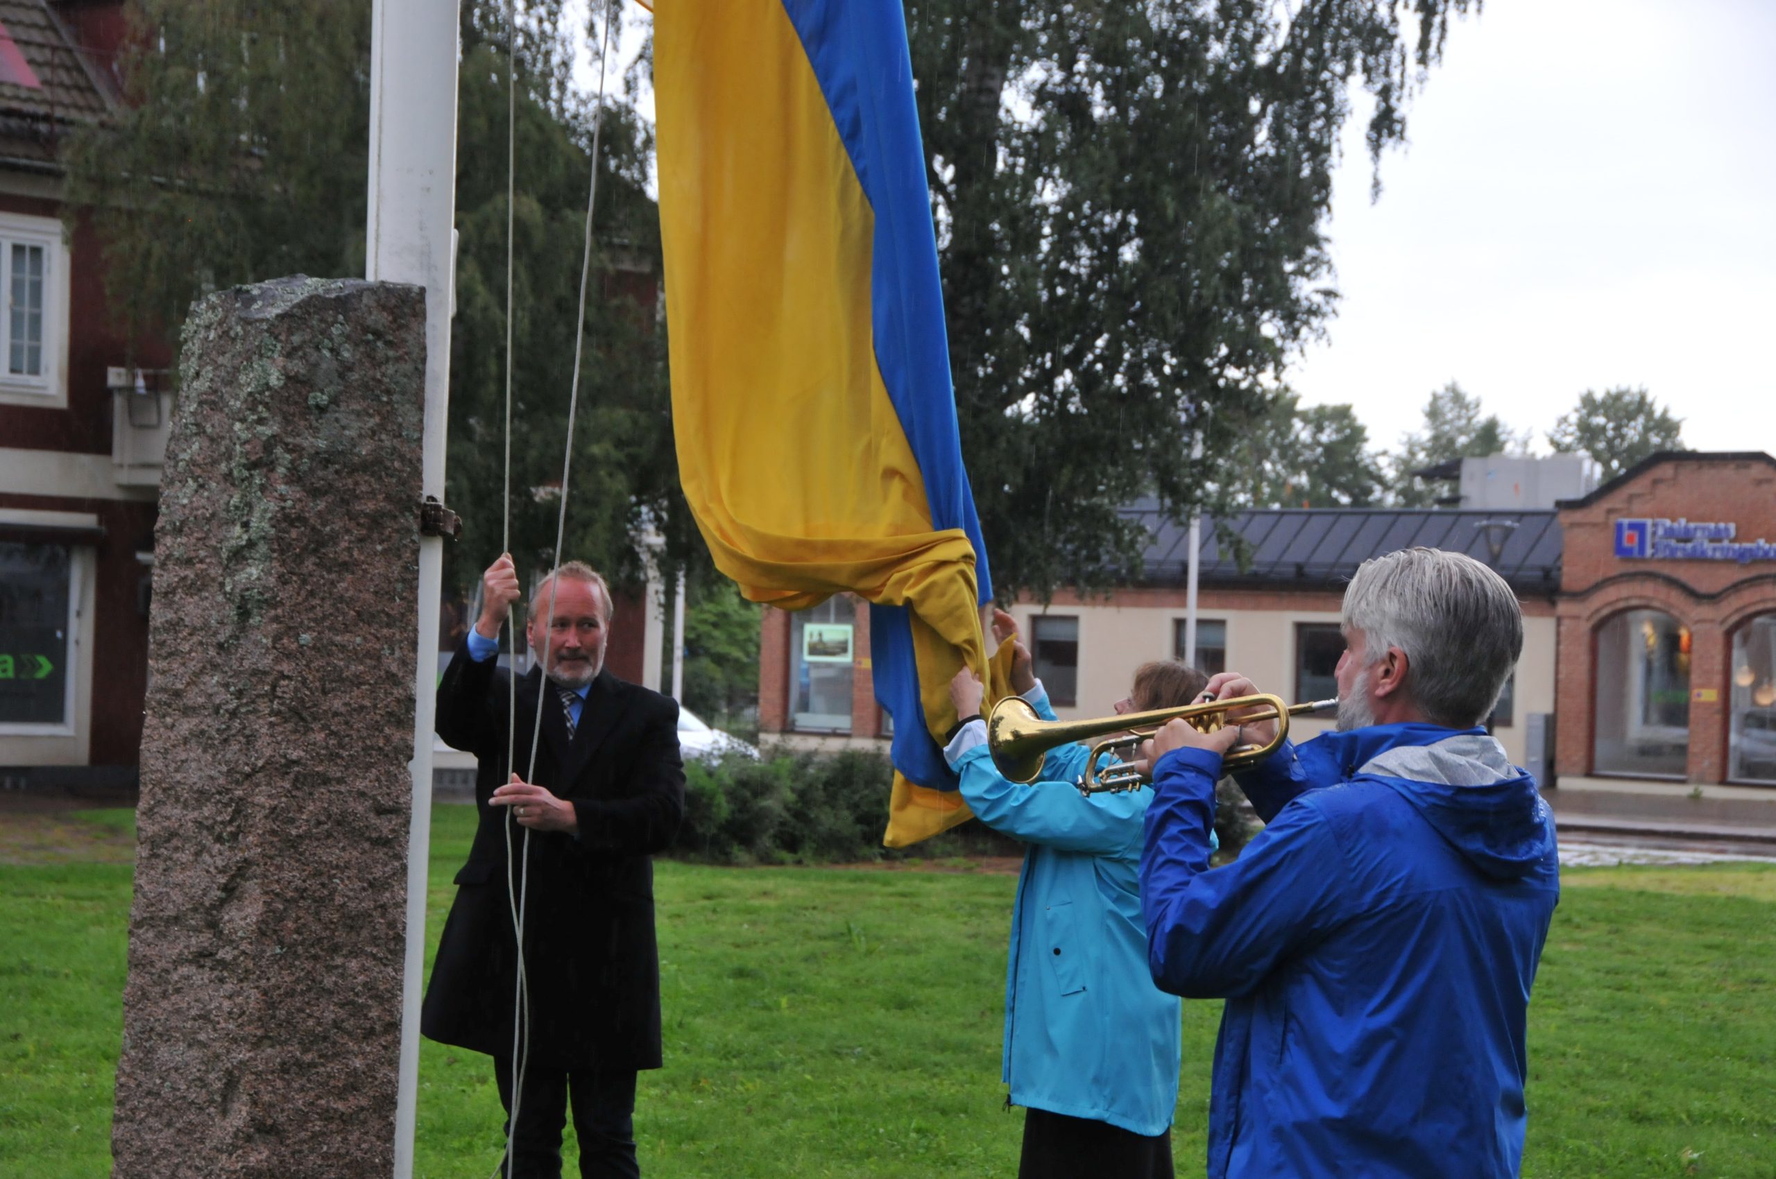
<svg viewBox="0 0 1776 1179">
<path fill-rule="evenodd" d="M 1517 1175 L 1559 898 L 1534 779 L 1478 728 L 1325 733 L 1240 778 L 1270 826 L 1209 872 L 1217 776 L 1160 758 L 1140 861 L 1154 980 L 1227 1000 L 1209 1179 Z"/>
</svg>

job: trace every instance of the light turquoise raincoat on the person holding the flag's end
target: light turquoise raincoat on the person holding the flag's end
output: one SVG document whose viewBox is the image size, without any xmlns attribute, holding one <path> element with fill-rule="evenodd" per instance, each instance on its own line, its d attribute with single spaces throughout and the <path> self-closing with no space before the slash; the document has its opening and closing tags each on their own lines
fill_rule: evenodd
<svg viewBox="0 0 1776 1179">
<path fill-rule="evenodd" d="M 1037 698 L 1044 719 L 1055 714 Z M 1151 790 L 1083 797 L 1085 746 L 1039 781 L 1005 779 L 986 746 L 955 760 L 980 822 L 1030 847 L 1005 962 L 1012 1104 L 1162 1135 L 1177 1108 L 1179 1001 L 1153 985 L 1137 868 Z"/>
</svg>

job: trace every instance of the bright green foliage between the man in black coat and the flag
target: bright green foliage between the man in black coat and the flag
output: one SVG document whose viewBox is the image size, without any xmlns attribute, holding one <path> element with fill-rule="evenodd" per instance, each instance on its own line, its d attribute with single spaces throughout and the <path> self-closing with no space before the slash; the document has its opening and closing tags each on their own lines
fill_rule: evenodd
<svg viewBox="0 0 1776 1179">
<path fill-rule="evenodd" d="M 716 728 L 757 730 L 762 614 L 726 577 L 700 572 L 687 581 L 684 703 Z"/>
</svg>

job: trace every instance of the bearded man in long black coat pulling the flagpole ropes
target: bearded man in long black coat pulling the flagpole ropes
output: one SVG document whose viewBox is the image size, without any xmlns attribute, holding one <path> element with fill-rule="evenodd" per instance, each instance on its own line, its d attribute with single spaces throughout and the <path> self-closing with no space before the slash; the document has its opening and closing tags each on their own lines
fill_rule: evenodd
<svg viewBox="0 0 1776 1179">
<path fill-rule="evenodd" d="M 513 1179 L 561 1175 L 570 1094 L 581 1175 L 634 1177 L 636 1071 L 661 1067 L 648 856 L 671 843 L 684 815 L 678 705 L 604 671 L 611 593 L 590 566 L 563 565 L 531 595 L 526 637 L 536 662 L 517 685 L 511 760 L 529 765 L 538 708 L 542 740 L 531 781 L 520 781 L 508 760 L 510 678 L 496 659 L 520 597 L 511 558 L 494 561 L 481 582 L 481 616 L 437 698 L 439 737 L 476 755 L 481 824 L 456 874 L 421 1030 L 494 1056 L 508 1124 L 513 1053 L 524 1060 Z M 529 1019 L 517 1039 L 508 881 L 511 890 L 522 881 L 524 895 Z"/>
</svg>

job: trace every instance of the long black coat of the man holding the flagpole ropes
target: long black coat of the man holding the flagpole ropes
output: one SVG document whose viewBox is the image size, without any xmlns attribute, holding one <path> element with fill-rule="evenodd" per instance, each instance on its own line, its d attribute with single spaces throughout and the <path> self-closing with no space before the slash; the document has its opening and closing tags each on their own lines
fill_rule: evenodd
<svg viewBox="0 0 1776 1179">
<path fill-rule="evenodd" d="M 488 795 L 506 769 L 508 673 L 474 662 L 467 641 L 444 671 L 437 733 L 480 760 L 481 824 L 439 941 L 421 1032 L 433 1041 L 510 1056 L 517 938 L 508 898 L 506 811 Z M 515 760 L 529 765 L 540 669 L 519 680 Z M 552 685 L 551 685 L 552 687 Z M 524 888 L 529 1060 L 540 1067 L 661 1067 L 659 950 L 654 941 L 654 852 L 684 815 L 678 705 L 609 671 L 593 680 L 572 742 L 554 691 L 542 692 L 542 742 L 527 781 L 572 801 L 579 838 L 533 831 Z M 511 836 L 511 886 L 524 827 Z"/>
</svg>

